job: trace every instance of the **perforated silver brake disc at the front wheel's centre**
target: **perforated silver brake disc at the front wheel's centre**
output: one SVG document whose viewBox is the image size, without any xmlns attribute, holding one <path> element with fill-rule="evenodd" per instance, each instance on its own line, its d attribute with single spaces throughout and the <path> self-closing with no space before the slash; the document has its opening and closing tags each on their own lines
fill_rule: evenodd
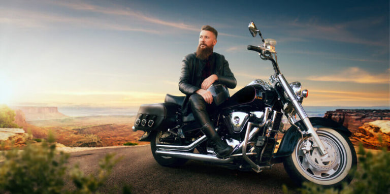
<svg viewBox="0 0 390 194">
<path fill-rule="evenodd" d="M 312 151 L 306 152 L 305 156 L 309 164 L 321 171 L 328 171 L 336 167 L 340 160 L 340 150 L 337 145 L 329 138 L 319 137 L 322 141 L 328 154 L 321 155 L 318 147 L 314 147 Z"/>
</svg>

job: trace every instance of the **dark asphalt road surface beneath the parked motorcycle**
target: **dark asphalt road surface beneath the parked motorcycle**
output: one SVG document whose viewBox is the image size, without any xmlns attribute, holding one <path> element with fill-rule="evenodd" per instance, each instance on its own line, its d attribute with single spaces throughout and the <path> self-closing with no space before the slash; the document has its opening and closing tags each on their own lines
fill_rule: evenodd
<svg viewBox="0 0 390 194">
<path fill-rule="evenodd" d="M 157 164 L 149 145 L 73 152 L 69 160 L 89 174 L 96 172 L 98 161 L 107 153 L 116 153 L 123 159 L 100 190 L 103 193 L 121 193 L 124 185 L 131 185 L 132 193 L 283 193 L 283 184 L 294 189 L 282 164 L 261 173 L 194 160 L 182 167 L 168 168 Z"/>
</svg>

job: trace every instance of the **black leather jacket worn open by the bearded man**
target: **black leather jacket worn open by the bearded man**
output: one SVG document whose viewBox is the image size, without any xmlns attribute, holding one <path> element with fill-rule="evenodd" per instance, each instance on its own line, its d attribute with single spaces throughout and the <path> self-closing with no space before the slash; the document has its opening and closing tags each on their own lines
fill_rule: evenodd
<svg viewBox="0 0 390 194">
<path fill-rule="evenodd" d="M 210 55 L 210 64 L 215 64 L 214 72 L 218 76 L 218 81 L 215 83 L 221 83 L 228 88 L 235 88 L 237 85 L 236 78 L 229 68 L 229 63 L 225 57 L 221 54 L 214 52 Z M 207 60 L 201 60 L 196 57 L 195 53 L 186 55 L 182 60 L 179 89 L 186 94 L 186 98 L 183 102 L 182 112 L 187 115 L 188 99 L 189 96 L 201 89 L 202 71 L 205 67 Z"/>
</svg>

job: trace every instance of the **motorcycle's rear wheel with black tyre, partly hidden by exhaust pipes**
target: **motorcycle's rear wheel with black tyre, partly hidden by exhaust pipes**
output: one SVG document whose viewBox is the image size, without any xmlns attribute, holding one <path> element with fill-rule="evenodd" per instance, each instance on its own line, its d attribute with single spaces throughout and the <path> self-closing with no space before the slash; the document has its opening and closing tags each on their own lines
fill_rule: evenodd
<svg viewBox="0 0 390 194">
<path fill-rule="evenodd" d="M 176 158 L 170 156 L 161 156 L 156 154 L 156 144 L 164 144 L 164 142 L 160 142 L 160 138 L 165 138 L 170 136 L 168 132 L 153 132 L 150 138 L 150 147 L 152 149 L 152 154 L 157 163 L 161 166 L 165 167 L 177 167 L 182 166 L 188 161 L 188 159 L 184 158 Z"/>
</svg>

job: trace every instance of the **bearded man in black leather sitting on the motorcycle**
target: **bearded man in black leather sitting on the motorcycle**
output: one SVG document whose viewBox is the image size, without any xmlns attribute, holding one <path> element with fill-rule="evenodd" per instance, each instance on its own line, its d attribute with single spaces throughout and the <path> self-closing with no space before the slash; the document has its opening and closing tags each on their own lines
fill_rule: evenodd
<svg viewBox="0 0 390 194">
<path fill-rule="evenodd" d="M 216 83 L 235 88 L 236 78 L 229 68 L 228 61 L 221 54 L 213 52 L 217 44 L 218 32 L 209 25 L 201 28 L 197 52 L 183 58 L 179 89 L 186 94 L 183 114 L 192 110 L 194 118 L 202 125 L 201 131 L 209 139 L 217 156 L 228 156 L 233 148 L 222 141 L 211 122 L 208 109 L 212 107 L 213 96 L 207 89 Z"/>
</svg>

